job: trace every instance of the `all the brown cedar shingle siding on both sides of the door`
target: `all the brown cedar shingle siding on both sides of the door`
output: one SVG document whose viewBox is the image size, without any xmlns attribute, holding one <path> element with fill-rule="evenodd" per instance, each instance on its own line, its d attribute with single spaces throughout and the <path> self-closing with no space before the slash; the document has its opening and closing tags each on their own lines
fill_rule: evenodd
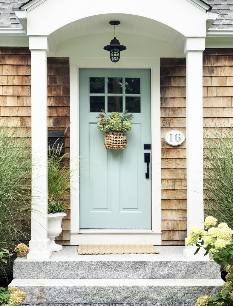
<svg viewBox="0 0 233 306">
<path fill-rule="evenodd" d="M 31 136 L 31 66 L 26 47 L 0 47 L 0 116 Z M 178 129 L 186 135 L 185 58 L 161 58 L 162 244 L 183 245 L 186 237 L 186 142 L 171 147 L 164 135 Z M 48 58 L 48 129 L 69 125 L 69 58 Z M 203 121 L 233 126 L 233 49 L 203 53 Z M 65 137 L 70 148 L 70 131 Z M 179 179 L 179 180 L 177 180 Z M 66 196 L 70 206 L 70 195 Z M 70 214 L 62 221 L 59 242 L 70 244 Z"/>
</svg>

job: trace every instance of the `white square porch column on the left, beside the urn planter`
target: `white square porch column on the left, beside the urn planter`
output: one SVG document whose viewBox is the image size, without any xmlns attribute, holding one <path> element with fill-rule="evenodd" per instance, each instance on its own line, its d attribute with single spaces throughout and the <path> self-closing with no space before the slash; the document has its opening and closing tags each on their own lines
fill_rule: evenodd
<svg viewBox="0 0 233 306">
<path fill-rule="evenodd" d="M 47 238 L 47 37 L 29 36 L 32 75 L 32 237 L 28 259 L 51 256 Z"/>
</svg>

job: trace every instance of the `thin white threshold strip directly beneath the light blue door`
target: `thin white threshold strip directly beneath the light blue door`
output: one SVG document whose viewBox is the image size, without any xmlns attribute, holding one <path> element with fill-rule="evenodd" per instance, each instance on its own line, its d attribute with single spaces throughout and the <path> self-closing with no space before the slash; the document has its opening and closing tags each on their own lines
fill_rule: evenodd
<svg viewBox="0 0 233 306">
<path fill-rule="evenodd" d="M 150 229 L 81 229 L 79 234 L 155 234 Z"/>
</svg>

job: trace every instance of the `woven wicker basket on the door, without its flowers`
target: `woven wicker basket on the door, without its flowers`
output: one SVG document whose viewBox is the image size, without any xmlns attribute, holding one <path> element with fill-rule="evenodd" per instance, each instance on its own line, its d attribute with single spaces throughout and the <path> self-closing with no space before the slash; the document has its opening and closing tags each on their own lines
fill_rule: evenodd
<svg viewBox="0 0 233 306">
<path fill-rule="evenodd" d="M 107 150 L 125 150 L 126 134 L 120 131 L 105 132 L 103 144 Z"/>
</svg>

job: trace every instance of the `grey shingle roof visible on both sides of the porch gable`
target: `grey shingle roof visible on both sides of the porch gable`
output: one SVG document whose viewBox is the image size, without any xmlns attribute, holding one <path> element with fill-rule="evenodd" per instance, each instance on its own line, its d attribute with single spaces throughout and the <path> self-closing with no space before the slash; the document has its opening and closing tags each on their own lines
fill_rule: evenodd
<svg viewBox="0 0 233 306">
<path fill-rule="evenodd" d="M 28 0 L 1 0 L 0 27 L 22 27 L 13 9 L 18 9 Z M 233 29 L 233 0 L 205 0 L 212 11 L 220 12 L 211 28 Z"/>
</svg>

